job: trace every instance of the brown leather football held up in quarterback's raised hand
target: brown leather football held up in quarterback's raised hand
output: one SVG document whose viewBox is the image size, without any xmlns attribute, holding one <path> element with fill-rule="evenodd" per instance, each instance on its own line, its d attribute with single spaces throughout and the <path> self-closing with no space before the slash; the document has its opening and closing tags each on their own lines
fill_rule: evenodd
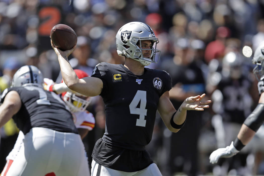
<svg viewBox="0 0 264 176">
<path fill-rule="evenodd" d="M 67 25 L 55 25 L 50 31 L 50 39 L 53 44 L 62 51 L 71 49 L 77 44 L 75 31 Z"/>
</svg>

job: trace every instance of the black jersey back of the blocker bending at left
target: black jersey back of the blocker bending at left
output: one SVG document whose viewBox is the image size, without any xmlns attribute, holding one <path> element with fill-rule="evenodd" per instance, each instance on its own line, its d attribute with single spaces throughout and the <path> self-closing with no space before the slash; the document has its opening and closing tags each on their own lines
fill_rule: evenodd
<svg viewBox="0 0 264 176">
<path fill-rule="evenodd" d="M 78 134 L 68 107 L 54 92 L 35 86 L 7 88 L 1 94 L 1 103 L 10 91 L 16 91 L 21 99 L 21 108 L 12 118 L 24 134 L 33 127 Z"/>
</svg>

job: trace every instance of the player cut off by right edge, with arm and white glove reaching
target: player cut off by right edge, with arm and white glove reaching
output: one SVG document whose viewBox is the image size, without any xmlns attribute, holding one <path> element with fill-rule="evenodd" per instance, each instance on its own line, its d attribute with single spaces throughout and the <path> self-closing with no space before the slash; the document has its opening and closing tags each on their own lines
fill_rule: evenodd
<svg viewBox="0 0 264 176">
<path fill-rule="evenodd" d="M 211 153 L 209 159 L 212 164 L 217 163 L 219 158 L 230 158 L 239 153 L 252 140 L 264 122 L 264 42 L 257 47 L 252 63 L 257 64 L 253 69 L 253 73 L 258 80 L 258 91 L 260 94 L 258 105 L 242 124 L 237 138 L 226 148 L 219 148 Z"/>
</svg>

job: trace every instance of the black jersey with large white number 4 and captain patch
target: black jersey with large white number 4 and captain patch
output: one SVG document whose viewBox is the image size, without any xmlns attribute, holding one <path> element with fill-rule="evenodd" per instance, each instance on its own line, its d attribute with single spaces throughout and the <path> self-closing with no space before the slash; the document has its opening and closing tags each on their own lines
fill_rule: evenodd
<svg viewBox="0 0 264 176">
<path fill-rule="evenodd" d="M 171 89 L 172 80 L 169 74 L 165 71 L 145 68 L 144 74 L 137 76 L 124 65 L 103 62 L 95 67 L 92 77 L 100 78 L 103 82 L 100 95 L 106 105 L 106 129 L 102 137 L 105 144 L 111 146 L 112 149 L 144 151 L 145 145 L 149 144 L 152 138 L 159 98 L 164 92 Z M 126 152 L 111 153 L 113 150 L 106 151 L 106 148 L 102 150 L 102 147 L 101 145 L 98 148 L 101 148 L 100 154 L 106 156 L 105 158 L 96 155 L 96 151 L 93 152 L 93 156 L 100 158 L 95 157 L 100 164 L 103 165 L 103 159 L 108 159 L 108 164 L 105 165 L 112 169 L 122 169 L 126 172 L 137 170 L 132 167 L 128 168 L 125 160 L 119 162 L 119 168 L 112 167 L 113 163 L 118 163 L 115 160 L 125 159 L 121 155 Z M 107 153 L 111 153 L 111 156 L 120 155 L 119 158 L 113 159 L 114 157 L 107 158 Z M 134 154 L 137 155 L 135 157 L 140 156 L 141 160 L 144 160 L 141 155 L 146 155 L 144 157 L 149 158 L 149 155 L 144 152 L 143 154 L 136 152 Z M 131 155 L 131 153 L 128 152 L 125 155 Z M 140 164 L 139 160 L 134 162 Z M 124 167 L 120 167 L 122 163 L 124 163 Z"/>
</svg>

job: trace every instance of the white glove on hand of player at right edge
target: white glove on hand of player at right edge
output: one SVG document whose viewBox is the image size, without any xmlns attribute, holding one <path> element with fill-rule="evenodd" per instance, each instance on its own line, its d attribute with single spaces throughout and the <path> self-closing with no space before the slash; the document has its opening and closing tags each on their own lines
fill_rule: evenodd
<svg viewBox="0 0 264 176">
<path fill-rule="evenodd" d="M 226 148 L 220 148 L 215 151 L 213 151 L 209 157 L 210 163 L 215 164 L 217 163 L 219 158 L 230 158 L 237 154 L 239 150 L 237 150 L 234 145 L 233 141 L 231 142 L 230 146 L 227 146 Z"/>
</svg>

